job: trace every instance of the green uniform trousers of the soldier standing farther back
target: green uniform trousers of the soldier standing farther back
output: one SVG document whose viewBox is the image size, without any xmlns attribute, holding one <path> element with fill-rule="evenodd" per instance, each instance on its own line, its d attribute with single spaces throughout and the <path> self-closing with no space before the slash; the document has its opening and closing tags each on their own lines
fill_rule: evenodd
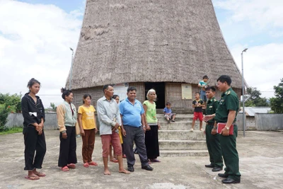
<svg viewBox="0 0 283 189">
<path fill-rule="evenodd" d="M 212 134 L 214 125 L 205 127 L 205 137 L 207 139 L 207 149 L 209 152 L 209 161 L 215 167 L 223 167 L 222 151 L 219 142 L 219 134 Z"/>
</svg>

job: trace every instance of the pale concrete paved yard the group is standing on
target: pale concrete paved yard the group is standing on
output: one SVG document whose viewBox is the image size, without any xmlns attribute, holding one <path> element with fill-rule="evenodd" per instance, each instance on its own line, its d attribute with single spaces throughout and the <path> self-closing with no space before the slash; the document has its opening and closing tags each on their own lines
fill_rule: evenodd
<svg viewBox="0 0 283 189">
<path fill-rule="evenodd" d="M 84 168 L 81 158 L 81 138 L 77 139 L 77 168 L 59 171 L 59 132 L 45 132 L 47 153 L 43 169 L 47 176 L 28 181 L 23 171 L 23 134 L 0 135 L 0 188 L 282 188 L 283 132 L 239 133 L 237 148 L 240 156 L 241 183 L 223 185 L 210 168 L 208 157 L 160 157 L 154 171 L 141 169 L 138 156 L 135 171 L 129 175 L 118 173 L 118 166 L 110 162 L 111 176 L 103 175 L 100 138 L 96 138 L 94 160 L 98 166 Z M 125 167 L 127 167 L 124 159 Z M 223 173 L 224 171 L 221 171 Z"/>
</svg>

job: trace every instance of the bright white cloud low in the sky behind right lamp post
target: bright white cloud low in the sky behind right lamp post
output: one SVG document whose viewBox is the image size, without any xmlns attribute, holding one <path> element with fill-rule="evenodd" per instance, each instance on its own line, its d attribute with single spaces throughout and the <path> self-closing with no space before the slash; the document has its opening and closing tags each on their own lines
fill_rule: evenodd
<svg viewBox="0 0 283 189">
<path fill-rule="evenodd" d="M 231 53 L 241 67 L 241 52 L 245 49 L 243 45 L 235 45 L 231 48 Z M 243 73 L 249 86 L 262 91 L 262 96 L 270 98 L 274 96 L 273 86 L 279 84 L 283 78 L 283 44 L 270 43 L 249 47 L 247 52 L 243 52 Z"/>
</svg>

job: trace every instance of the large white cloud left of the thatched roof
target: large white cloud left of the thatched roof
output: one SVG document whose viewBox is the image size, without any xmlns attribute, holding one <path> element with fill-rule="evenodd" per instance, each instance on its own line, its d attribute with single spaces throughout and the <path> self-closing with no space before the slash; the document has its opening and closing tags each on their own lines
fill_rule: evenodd
<svg viewBox="0 0 283 189">
<path fill-rule="evenodd" d="M 0 93 L 25 93 L 35 78 L 45 106 L 60 103 L 59 88 L 71 66 L 69 47 L 76 49 L 83 11 L 20 1 L 0 4 Z"/>
</svg>

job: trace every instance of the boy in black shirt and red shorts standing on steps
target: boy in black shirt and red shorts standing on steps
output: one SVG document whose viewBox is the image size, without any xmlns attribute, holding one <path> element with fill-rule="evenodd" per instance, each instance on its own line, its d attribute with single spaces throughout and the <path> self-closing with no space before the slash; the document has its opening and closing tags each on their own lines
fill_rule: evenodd
<svg viewBox="0 0 283 189">
<path fill-rule="evenodd" d="M 194 110 L 194 118 L 192 118 L 192 129 L 190 131 L 194 131 L 195 128 L 195 120 L 199 119 L 200 120 L 200 131 L 202 131 L 202 108 L 204 108 L 204 101 L 200 99 L 200 93 L 197 92 L 195 93 L 195 100 L 192 101 L 192 108 L 195 108 Z"/>
</svg>

